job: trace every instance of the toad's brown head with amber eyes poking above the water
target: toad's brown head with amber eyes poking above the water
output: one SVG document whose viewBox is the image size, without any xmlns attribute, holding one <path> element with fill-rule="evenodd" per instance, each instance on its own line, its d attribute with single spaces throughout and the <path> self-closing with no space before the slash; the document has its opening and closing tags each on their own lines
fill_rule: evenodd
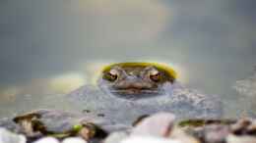
<svg viewBox="0 0 256 143">
<path fill-rule="evenodd" d="M 105 67 L 98 86 L 107 94 L 126 99 L 165 95 L 176 72 L 155 63 L 118 63 Z"/>
</svg>

